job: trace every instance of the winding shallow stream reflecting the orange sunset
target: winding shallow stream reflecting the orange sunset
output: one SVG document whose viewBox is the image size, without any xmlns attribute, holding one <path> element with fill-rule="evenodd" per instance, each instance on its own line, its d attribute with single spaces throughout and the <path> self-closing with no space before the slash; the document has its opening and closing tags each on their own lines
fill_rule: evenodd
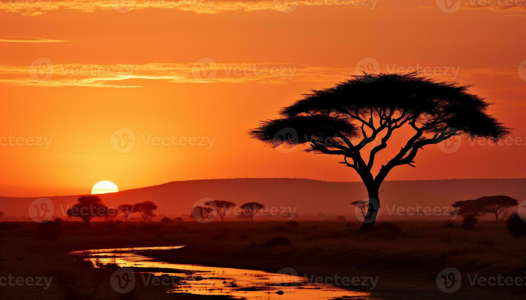
<svg viewBox="0 0 526 300">
<path fill-rule="evenodd" d="M 178 276 L 169 293 L 228 295 L 248 299 L 331 299 L 337 297 L 367 298 L 368 293 L 352 292 L 332 285 L 308 283 L 306 277 L 238 268 L 174 264 L 155 261 L 150 250 L 179 249 L 184 246 L 136 247 L 75 251 L 84 255 L 94 267 L 130 267 L 135 273 L 155 276 Z M 292 270 L 292 269 L 290 269 Z M 140 277 L 140 276 L 139 276 Z"/>
</svg>

